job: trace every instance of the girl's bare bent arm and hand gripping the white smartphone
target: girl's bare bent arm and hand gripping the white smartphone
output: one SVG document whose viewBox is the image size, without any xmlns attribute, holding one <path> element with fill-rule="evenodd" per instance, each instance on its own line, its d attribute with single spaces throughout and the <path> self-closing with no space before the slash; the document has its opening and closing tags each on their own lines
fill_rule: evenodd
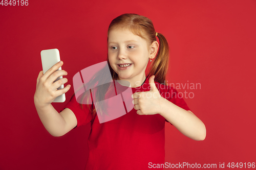
<svg viewBox="0 0 256 170">
<path fill-rule="evenodd" d="M 76 117 L 70 109 L 66 108 L 58 113 L 51 105 L 57 96 L 70 89 L 68 85 L 57 90 L 60 85 L 68 82 L 67 78 L 54 82 L 57 77 L 68 74 L 65 70 L 57 70 L 62 64 L 63 62 L 56 63 L 45 74 L 42 71 L 39 72 L 34 94 L 34 104 L 39 118 L 46 130 L 53 136 L 62 136 L 77 125 Z"/>
</svg>

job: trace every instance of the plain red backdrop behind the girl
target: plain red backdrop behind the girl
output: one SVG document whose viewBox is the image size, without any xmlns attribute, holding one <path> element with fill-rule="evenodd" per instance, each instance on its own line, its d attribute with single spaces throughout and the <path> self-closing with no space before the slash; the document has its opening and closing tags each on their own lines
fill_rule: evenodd
<svg viewBox="0 0 256 170">
<path fill-rule="evenodd" d="M 73 85 L 76 72 L 105 60 L 108 26 L 123 13 L 150 18 L 168 40 L 168 83 L 201 84 L 177 90 L 194 93 L 184 100 L 204 122 L 206 139 L 166 124 L 166 162 L 256 162 L 256 1 L 29 0 L 0 6 L 0 169 L 83 169 L 90 127 L 53 137 L 34 107 L 40 51 L 58 48 Z M 72 90 L 53 104 L 57 111 Z"/>
</svg>

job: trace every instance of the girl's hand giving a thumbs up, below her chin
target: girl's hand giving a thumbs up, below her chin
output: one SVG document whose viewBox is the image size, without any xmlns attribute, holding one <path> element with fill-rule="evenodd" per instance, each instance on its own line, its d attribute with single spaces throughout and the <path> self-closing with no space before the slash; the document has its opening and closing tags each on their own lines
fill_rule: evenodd
<svg viewBox="0 0 256 170">
<path fill-rule="evenodd" d="M 161 103 L 165 100 L 159 93 L 154 82 L 155 76 L 149 79 L 150 91 L 133 93 L 132 98 L 134 109 L 139 115 L 157 114 L 161 111 Z"/>
</svg>

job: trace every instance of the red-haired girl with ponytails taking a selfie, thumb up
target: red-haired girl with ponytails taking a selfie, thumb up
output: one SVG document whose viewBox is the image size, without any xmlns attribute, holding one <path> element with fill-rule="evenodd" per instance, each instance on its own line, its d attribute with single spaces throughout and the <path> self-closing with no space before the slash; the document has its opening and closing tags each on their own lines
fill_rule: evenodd
<svg viewBox="0 0 256 170">
<path fill-rule="evenodd" d="M 51 102 L 71 87 L 57 90 L 67 83 L 67 78 L 53 83 L 57 77 L 67 75 L 65 70 L 55 71 L 62 66 L 60 61 L 45 75 L 40 71 L 37 78 L 34 103 L 42 124 L 51 135 L 61 136 L 91 123 L 86 169 L 148 169 L 164 163 L 165 122 L 191 139 L 204 140 L 204 124 L 178 92 L 165 84 L 168 49 L 166 39 L 155 31 L 150 19 L 137 14 L 118 16 L 108 30 L 107 61 L 113 80 L 130 82 L 134 109 L 100 124 L 94 104 L 80 107 L 72 97 L 58 113 Z M 152 64 L 145 75 L 148 63 Z"/>
</svg>

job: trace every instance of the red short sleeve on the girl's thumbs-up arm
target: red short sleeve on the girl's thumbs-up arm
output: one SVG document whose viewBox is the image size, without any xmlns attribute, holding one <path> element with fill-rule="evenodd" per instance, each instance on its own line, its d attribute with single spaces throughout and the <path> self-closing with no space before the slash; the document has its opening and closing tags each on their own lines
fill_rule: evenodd
<svg viewBox="0 0 256 170">
<path fill-rule="evenodd" d="M 167 98 L 168 101 L 181 107 L 182 109 L 190 110 L 189 107 L 187 106 L 186 102 L 182 98 L 182 96 L 179 94 L 179 92 L 175 88 L 173 88 L 173 87 L 168 88 L 167 93 L 169 95 L 169 98 Z M 166 120 L 166 119 L 165 119 L 165 121 L 168 122 L 168 120 Z"/>
</svg>

